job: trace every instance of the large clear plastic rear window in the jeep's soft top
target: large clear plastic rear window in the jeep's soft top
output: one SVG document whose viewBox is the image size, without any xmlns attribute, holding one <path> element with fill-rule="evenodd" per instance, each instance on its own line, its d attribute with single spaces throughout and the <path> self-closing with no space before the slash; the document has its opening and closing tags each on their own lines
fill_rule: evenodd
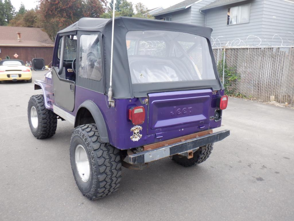
<svg viewBox="0 0 294 221">
<path fill-rule="evenodd" d="M 216 79 L 206 38 L 147 30 L 126 34 L 132 83 Z"/>
</svg>

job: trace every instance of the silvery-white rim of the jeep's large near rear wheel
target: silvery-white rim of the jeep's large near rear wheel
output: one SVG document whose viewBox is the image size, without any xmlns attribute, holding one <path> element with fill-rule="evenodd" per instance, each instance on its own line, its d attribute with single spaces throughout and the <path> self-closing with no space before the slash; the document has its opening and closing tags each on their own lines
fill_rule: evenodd
<svg viewBox="0 0 294 221">
<path fill-rule="evenodd" d="M 75 156 L 78 175 L 81 177 L 83 182 L 87 182 L 90 178 L 90 164 L 86 150 L 81 144 L 76 146 Z"/>
</svg>

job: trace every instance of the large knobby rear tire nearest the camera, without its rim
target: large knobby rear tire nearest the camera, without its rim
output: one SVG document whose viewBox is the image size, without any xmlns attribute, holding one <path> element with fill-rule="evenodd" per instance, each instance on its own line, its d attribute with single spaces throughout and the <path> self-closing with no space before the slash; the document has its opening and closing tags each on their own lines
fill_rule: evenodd
<svg viewBox="0 0 294 221">
<path fill-rule="evenodd" d="M 116 192 L 121 181 L 120 150 L 99 140 L 99 132 L 93 123 L 76 127 L 71 136 L 71 169 L 78 188 L 90 200 Z M 78 145 L 83 146 L 88 156 L 90 177 L 87 182 L 81 179 L 76 166 L 75 151 Z"/>
</svg>

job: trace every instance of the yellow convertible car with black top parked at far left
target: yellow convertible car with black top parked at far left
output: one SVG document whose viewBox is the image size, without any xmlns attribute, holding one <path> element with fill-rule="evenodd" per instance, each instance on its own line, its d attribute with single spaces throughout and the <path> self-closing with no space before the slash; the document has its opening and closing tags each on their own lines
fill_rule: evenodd
<svg viewBox="0 0 294 221">
<path fill-rule="evenodd" d="M 32 71 L 22 60 L 0 61 L 0 83 L 3 81 L 26 80 L 32 82 Z"/>
</svg>

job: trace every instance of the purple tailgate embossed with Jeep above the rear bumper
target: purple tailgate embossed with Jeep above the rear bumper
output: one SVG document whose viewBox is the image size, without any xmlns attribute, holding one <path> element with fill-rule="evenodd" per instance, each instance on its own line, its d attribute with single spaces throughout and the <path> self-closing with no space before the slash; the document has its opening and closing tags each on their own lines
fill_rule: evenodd
<svg viewBox="0 0 294 221">
<path fill-rule="evenodd" d="M 148 135 L 195 127 L 208 129 L 211 89 L 148 94 Z"/>
</svg>

